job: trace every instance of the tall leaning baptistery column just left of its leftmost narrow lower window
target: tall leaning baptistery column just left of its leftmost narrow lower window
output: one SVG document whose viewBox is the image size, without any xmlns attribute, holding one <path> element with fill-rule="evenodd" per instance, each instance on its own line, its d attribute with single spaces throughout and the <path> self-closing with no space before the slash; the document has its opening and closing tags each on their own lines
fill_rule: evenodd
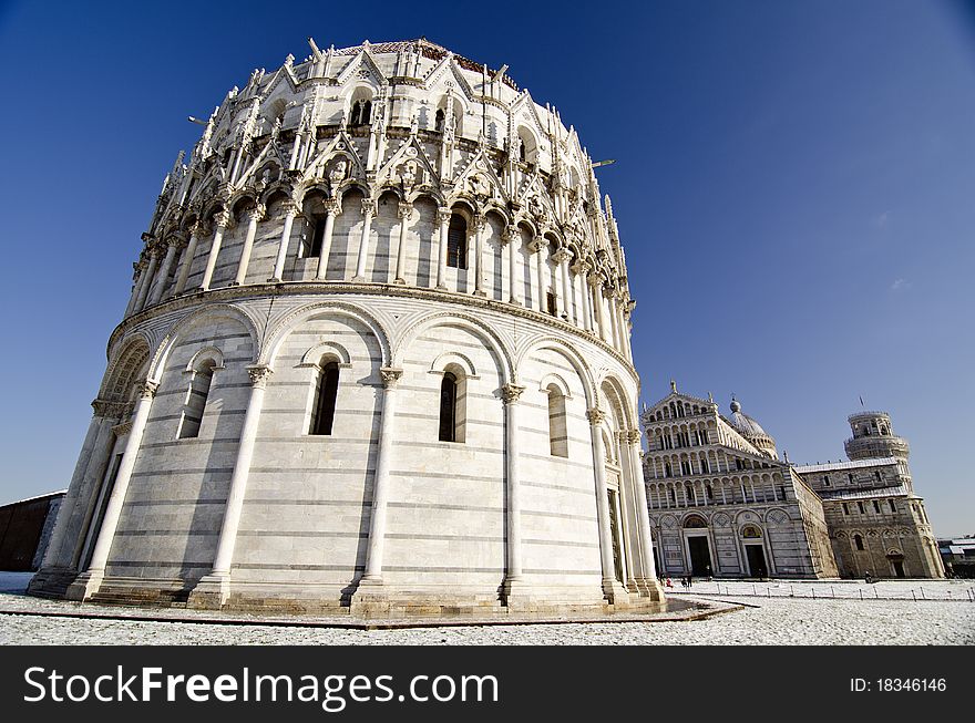
<svg viewBox="0 0 975 723">
<path fill-rule="evenodd" d="M 119 527 L 119 518 L 122 516 L 122 506 L 125 503 L 125 494 L 129 492 L 129 482 L 132 478 L 132 471 L 135 468 L 135 458 L 138 455 L 138 447 L 142 445 L 142 435 L 145 432 L 145 423 L 148 420 L 156 389 L 158 389 L 158 382 L 152 380 L 146 380 L 142 385 L 142 392 L 132 417 L 132 431 L 129 433 L 129 442 L 122 453 L 122 464 L 119 465 L 119 472 L 115 475 L 115 485 L 109 497 L 109 505 L 105 508 L 105 516 L 102 519 L 102 528 L 99 530 L 99 539 L 92 552 L 91 564 L 88 570 L 68 588 L 65 597 L 69 600 L 86 600 L 99 591 L 105 577 L 105 564 L 109 561 L 109 552 L 112 549 L 112 541 L 115 539 L 115 530 Z"/>
</svg>

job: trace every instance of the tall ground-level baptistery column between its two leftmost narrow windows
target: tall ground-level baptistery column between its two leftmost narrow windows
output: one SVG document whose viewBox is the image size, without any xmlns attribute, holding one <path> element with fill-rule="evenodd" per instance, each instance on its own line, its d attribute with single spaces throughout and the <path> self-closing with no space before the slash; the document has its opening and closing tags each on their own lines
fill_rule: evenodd
<svg viewBox="0 0 975 723">
<path fill-rule="evenodd" d="M 237 459 L 234 462 L 234 474 L 230 476 L 230 489 L 227 493 L 227 505 L 224 509 L 224 521 L 220 525 L 220 537 L 217 552 L 209 575 L 201 578 L 189 595 L 189 607 L 219 608 L 230 595 L 230 562 L 234 558 L 234 546 L 237 543 L 237 528 L 240 525 L 240 512 L 244 509 L 244 495 L 247 492 L 247 478 L 250 475 L 250 459 L 254 457 L 254 442 L 257 438 L 257 425 L 260 421 L 260 409 L 264 405 L 264 393 L 267 381 L 274 370 L 263 364 L 248 366 L 250 375 L 250 399 L 244 413 L 244 427 L 240 430 L 240 443 L 237 445 Z"/>
</svg>

